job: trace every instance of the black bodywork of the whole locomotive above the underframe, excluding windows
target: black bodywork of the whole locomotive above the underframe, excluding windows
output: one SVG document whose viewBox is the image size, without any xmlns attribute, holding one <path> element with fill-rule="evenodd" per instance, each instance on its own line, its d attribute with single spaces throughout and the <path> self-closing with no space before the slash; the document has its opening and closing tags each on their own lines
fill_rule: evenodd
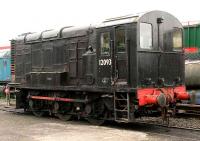
<svg viewBox="0 0 200 141">
<path fill-rule="evenodd" d="M 140 48 L 141 22 L 153 26 L 151 50 Z M 116 28 L 125 29 L 124 53 L 116 52 Z M 182 50 L 172 49 L 171 33 L 176 28 L 182 26 L 172 15 L 153 11 L 133 22 L 25 34 L 11 44 L 16 56 L 16 82 L 26 89 L 91 92 L 130 92 L 139 87 L 183 84 L 184 55 Z M 111 37 L 107 56 L 100 54 L 100 33 L 105 31 Z M 100 66 L 100 59 L 111 59 L 112 64 Z"/>
</svg>

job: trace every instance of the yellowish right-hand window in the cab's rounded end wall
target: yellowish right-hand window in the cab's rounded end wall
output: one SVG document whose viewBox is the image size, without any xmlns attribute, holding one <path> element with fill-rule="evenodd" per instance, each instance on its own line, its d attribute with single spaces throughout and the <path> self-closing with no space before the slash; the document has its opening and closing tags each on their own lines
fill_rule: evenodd
<svg viewBox="0 0 200 141">
<path fill-rule="evenodd" d="M 173 32 L 173 49 L 180 50 L 182 48 L 182 30 L 176 29 Z"/>
</svg>

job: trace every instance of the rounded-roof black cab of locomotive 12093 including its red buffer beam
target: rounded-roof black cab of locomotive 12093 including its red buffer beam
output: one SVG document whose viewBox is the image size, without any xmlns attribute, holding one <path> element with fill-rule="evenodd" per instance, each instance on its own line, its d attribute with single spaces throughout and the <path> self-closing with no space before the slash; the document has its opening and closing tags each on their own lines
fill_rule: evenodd
<svg viewBox="0 0 200 141">
<path fill-rule="evenodd" d="M 129 89 L 139 107 L 188 99 L 182 36 L 181 23 L 162 11 L 104 21 L 97 27 L 98 85 Z"/>
</svg>

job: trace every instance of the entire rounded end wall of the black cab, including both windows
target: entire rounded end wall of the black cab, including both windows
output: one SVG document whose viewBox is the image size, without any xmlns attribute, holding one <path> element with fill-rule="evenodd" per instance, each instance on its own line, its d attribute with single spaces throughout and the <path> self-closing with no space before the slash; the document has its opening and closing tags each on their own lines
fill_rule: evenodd
<svg viewBox="0 0 200 141">
<path fill-rule="evenodd" d="M 150 12 L 138 20 L 138 85 L 184 84 L 182 25 L 165 12 Z"/>
</svg>

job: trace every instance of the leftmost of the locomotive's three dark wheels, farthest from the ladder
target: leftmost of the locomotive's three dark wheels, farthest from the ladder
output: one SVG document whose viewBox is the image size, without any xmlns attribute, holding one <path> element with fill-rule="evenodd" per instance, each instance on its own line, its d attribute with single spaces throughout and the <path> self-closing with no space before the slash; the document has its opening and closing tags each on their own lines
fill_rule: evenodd
<svg viewBox="0 0 200 141">
<path fill-rule="evenodd" d="M 42 117 L 45 115 L 45 111 L 42 109 L 42 101 L 29 100 L 29 107 L 36 117 Z"/>
</svg>

